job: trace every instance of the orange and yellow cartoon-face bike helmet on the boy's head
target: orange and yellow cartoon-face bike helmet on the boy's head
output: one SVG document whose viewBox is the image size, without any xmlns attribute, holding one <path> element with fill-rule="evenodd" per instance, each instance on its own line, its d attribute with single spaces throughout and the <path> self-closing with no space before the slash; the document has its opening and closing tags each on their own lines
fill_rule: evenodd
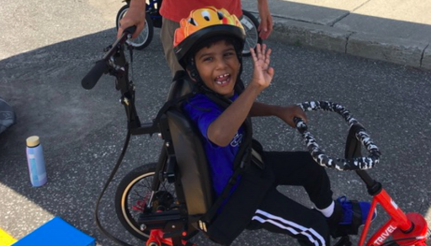
<svg viewBox="0 0 431 246">
<path fill-rule="evenodd" d="M 174 34 L 174 52 L 179 63 L 185 68 L 185 58 L 189 52 L 198 44 L 215 36 L 237 39 L 241 51 L 244 47 L 245 31 L 235 15 L 212 6 L 192 10 L 187 18 L 181 19 L 180 27 Z"/>
</svg>

